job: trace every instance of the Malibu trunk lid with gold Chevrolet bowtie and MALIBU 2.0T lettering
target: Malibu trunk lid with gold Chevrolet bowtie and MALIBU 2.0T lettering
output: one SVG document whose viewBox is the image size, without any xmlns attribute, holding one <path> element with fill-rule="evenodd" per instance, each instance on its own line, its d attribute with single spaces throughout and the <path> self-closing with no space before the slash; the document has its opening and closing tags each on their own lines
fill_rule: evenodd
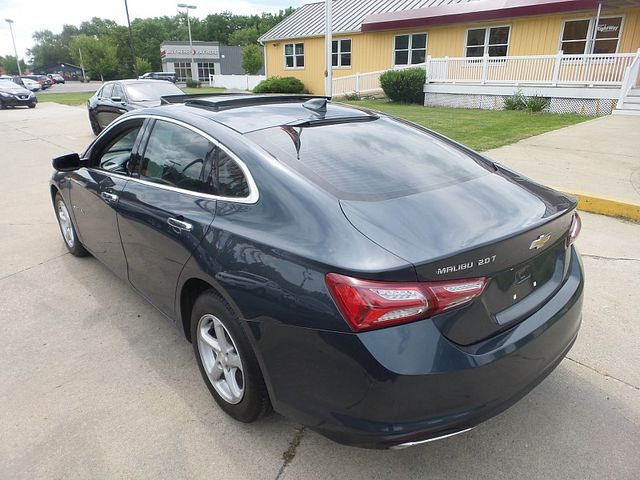
<svg viewBox="0 0 640 480">
<path fill-rule="evenodd" d="M 523 320 L 566 276 L 575 200 L 500 167 L 414 195 L 340 203 L 355 228 L 412 263 L 419 281 L 489 279 L 480 299 L 433 319 L 458 344 Z"/>
</svg>

